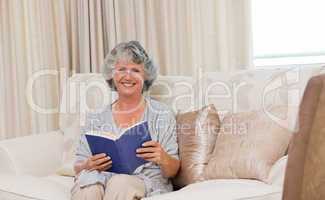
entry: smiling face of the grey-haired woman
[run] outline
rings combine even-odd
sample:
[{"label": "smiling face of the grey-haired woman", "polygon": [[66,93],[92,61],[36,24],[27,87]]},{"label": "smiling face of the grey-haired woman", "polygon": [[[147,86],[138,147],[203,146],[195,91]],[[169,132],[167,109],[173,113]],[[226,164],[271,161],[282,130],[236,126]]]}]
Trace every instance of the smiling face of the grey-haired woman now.
[{"label": "smiling face of the grey-haired woman", "polygon": [[140,96],[144,76],[143,64],[118,61],[114,66],[113,81],[119,96]]}]

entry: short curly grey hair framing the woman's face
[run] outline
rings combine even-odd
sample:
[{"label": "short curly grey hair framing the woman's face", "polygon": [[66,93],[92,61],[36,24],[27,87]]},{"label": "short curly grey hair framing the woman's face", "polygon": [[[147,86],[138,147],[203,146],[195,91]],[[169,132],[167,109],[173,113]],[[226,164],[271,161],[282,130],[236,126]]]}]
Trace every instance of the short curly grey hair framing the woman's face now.
[{"label": "short curly grey hair framing the woman's face", "polygon": [[103,68],[108,85],[113,90],[116,90],[113,81],[113,69],[114,65],[121,60],[143,64],[145,72],[143,91],[147,91],[158,76],[158,67],[153,63],[138,41],[119,43],[106,56]]}]

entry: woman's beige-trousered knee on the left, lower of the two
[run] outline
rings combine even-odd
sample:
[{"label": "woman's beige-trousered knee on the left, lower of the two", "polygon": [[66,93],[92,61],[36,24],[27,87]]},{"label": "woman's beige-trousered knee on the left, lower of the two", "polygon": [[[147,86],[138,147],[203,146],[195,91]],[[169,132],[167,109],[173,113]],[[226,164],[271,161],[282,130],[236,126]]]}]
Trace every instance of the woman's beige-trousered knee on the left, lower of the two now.
[{"label": "woman's beige-trousered knee on the left, lower of the two", "polygon": [[93,184],[80,188],[76,184],[71,190],[72,200],[102,200],[104,196],[104,187],[101,184]]}]

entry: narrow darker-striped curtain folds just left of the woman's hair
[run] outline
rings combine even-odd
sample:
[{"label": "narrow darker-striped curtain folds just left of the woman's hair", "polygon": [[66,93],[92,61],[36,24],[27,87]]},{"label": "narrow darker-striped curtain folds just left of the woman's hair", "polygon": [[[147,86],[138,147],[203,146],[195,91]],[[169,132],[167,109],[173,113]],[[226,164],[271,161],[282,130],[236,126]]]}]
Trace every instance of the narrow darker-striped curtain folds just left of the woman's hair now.
[{"label": "narrow darker-striped curtain folds just left of the woman's hair", "polygon": [[72,0],[70,15],[72,37],[79,50],[81,72],[99,72],[105,49],[115,45],[113,0]]}]

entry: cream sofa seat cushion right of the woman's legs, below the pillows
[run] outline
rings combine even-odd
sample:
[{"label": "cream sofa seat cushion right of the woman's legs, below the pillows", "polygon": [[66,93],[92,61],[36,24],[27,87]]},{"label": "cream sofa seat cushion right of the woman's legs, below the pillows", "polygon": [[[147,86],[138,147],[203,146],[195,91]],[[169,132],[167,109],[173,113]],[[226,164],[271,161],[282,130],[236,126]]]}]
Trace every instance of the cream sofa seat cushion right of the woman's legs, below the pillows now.
[{"label": "cream sofa seat cushion right of the woman's legs, below the pillows", "polygon": [[216,179],[190,184],[181,190],[145,198],[145,200],[263,199],[281,200],[281,187],[256,180]]}]

